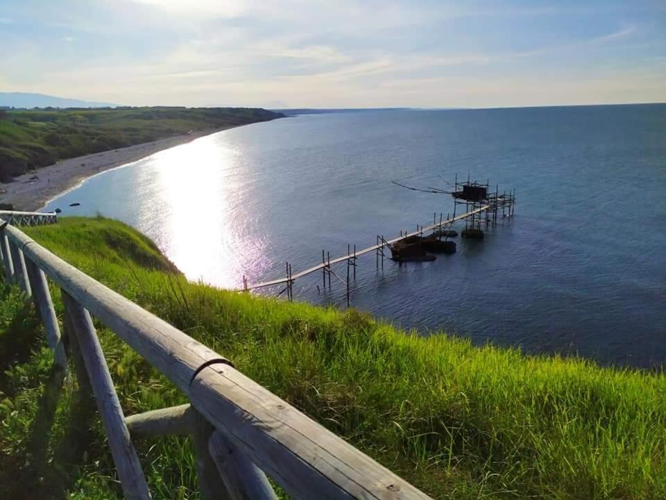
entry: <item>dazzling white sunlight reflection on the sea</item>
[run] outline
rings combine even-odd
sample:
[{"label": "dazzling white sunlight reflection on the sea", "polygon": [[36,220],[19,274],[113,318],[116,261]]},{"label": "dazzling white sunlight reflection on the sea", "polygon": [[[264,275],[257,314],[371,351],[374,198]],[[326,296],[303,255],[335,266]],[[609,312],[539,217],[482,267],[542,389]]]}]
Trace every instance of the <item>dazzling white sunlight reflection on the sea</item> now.
[{"label": "dazzling white sunlight reflection on the sea", "polygon": [[237,288],[248,262],[262,259],[262,241],[244,235],[234,217],[245,178],[235,151],[219,136],[202,138],[157,153],[151,163],[138,172],[152,208],[139,212],[139,230],[153,235],[188,278]]}]

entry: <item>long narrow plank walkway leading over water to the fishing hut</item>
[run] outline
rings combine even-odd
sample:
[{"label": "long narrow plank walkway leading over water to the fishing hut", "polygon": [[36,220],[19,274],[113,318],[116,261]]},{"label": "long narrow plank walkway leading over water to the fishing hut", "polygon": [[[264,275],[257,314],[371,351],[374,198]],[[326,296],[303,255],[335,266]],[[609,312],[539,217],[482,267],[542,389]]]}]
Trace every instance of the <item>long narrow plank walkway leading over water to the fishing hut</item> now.
[{"label": "long narrow plank walkway leading over water to the fishing hut", "polygon": [[[308,274],[312,274],[317,271],[332,272],[330,269],[332,265],[343,263],[345,261],[352,261],[353,262],[352,265],[356,265],[356,259],[359,256],[362,256],[366,253],[370,253],[373,251],[383,252],[384,248],[389,247],[392,244],[399,242],[400,240],[404,240],[405,238],[410,238],[411,236],[422,235],[424,231],[427,232],[427,231],[441,230],[446,226],[450,226],[456,221],[467,219],[468,217],[472,217],[477,214],[481,214],[483,212],[486,212],[486,210],[490,210],[490,208],[491,208],[490,205],[484,205],[479,208],[475,208],[475,210],[470,210],[469,212],[463,213],[461,215],[455,215],[450,219],[440,220],[440,222],[436,222],[430,226],[422,226],[420,229],[418,229],[418,231],[414,231],[413,233],[404,233],[396,238],[393,238],[392,240],[384,240],[383,237],[380,237],[379,240],[381,241],[377,244],[374,244],[372,247],[364,248],[359,251],[354,251],[353,253],[348,252],[347,255],[341,257],[325,259],[322,256],[322,262],[320,264],[308,267],[307,269],[297,272],[296,274],[291,274],[291,267],[287,265],[287,274],[286,276],[284,276],[284,278],[276,278],[271,281],[264,281],[263,283],[254,283],[252,285],[245,284],[243,290],[257,290],[257,288],[266,288],[274,285],[293,285],[293,282],[296,281],[298,278],[302,278],[303,276],[307,276]],[[341,281],[344,280],[341,279]]]}]

